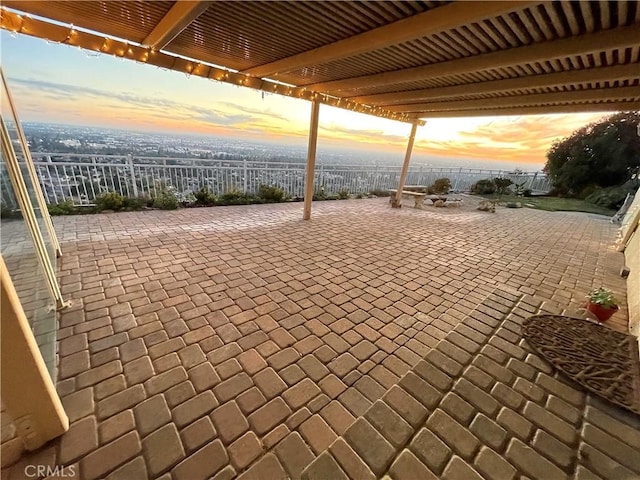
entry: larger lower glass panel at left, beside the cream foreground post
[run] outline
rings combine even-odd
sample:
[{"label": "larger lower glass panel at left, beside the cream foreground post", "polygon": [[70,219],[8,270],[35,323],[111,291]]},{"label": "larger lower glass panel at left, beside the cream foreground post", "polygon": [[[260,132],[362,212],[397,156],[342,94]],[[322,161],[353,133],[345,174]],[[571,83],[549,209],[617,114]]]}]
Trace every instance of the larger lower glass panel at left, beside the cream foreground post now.
[{"label": "larger lower glass panel at left, beside the cream foreground post", "polygon": [[[42,270],[33,237],[22,218],[6,158],[0,165],[0,246],[2,258],[29,320],[40,352],[55,382],[56,302]],[[44,230],[44,228],[43,228]]]}]

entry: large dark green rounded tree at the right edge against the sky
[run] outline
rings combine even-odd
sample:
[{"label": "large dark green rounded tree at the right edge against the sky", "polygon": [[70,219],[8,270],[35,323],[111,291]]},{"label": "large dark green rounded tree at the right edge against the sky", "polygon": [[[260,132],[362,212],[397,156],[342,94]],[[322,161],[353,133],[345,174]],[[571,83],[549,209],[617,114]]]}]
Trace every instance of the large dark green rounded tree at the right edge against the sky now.
[{"label": "large dark green rounded tree at the right edge against the sky", "polygon": [[545,173],[572,195],[626,182],[640,167],[639,123],[640,112],[621,112],[576,130],[551,146]]}]

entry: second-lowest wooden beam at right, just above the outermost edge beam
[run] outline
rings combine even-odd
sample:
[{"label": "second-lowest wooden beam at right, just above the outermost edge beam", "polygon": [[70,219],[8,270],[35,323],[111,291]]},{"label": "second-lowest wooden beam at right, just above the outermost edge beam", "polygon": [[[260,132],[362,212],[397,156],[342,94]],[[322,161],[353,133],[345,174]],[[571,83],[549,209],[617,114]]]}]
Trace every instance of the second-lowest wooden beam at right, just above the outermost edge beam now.
[{"label": "second-lowest wooden beam at right, just above the outermost edge beam", "polygon": [[430,110],[476,110],[482,108],[534,107],[549,103],[584,103],[599,101],[640,101],[640,87],[599,88],[577,92],[536,93],[532,95],[512,95],[508,97],[481,98],[477,100],[450,100],[445,102],[412,103],[392,105],[389,110],[396,112],[424,112]]}]

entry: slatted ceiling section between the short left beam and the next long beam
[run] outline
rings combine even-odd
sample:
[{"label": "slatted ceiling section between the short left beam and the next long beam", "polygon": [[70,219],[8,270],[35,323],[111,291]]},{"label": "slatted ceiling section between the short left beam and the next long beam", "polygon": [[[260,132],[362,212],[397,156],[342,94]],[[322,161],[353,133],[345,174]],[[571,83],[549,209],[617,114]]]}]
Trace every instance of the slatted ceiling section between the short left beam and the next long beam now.
[{"label": "slatted ceiling section between the short left beam and the next long beam", "polygon": [[344,40],[441,3],[396,2],[396,7],[404,8],[390,11],[392,2],[214,2],[171,43],[170,50],[244,70]]}]

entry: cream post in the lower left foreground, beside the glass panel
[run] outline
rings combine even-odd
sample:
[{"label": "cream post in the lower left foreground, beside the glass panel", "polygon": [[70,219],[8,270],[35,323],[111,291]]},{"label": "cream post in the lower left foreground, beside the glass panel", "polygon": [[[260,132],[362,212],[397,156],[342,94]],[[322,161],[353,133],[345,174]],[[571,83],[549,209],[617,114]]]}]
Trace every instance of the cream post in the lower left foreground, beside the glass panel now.
[{"label": "cream post in the lower left foreground, beside the glass panel", "polygon": [[0,257],[2,402],[27,450],[35,450],[69,429],[9,272]]}]

